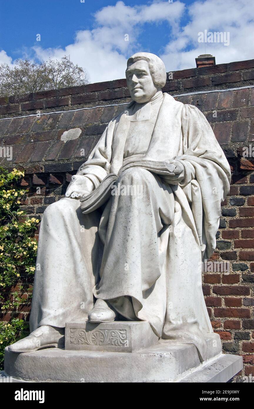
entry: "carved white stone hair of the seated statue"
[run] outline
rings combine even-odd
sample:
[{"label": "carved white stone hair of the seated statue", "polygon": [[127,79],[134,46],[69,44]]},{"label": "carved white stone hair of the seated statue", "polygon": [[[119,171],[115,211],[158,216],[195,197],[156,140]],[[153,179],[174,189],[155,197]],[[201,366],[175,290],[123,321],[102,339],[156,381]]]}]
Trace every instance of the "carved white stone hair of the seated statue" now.
[{"label": "carved white stone hair of the seated statue", "polygon": [[137,52],[128,59],[127,67],[139,60],[147,61],[154,85],[163,88],[167,79],[166,68],[163,61],[155,54],[149,52]]}]

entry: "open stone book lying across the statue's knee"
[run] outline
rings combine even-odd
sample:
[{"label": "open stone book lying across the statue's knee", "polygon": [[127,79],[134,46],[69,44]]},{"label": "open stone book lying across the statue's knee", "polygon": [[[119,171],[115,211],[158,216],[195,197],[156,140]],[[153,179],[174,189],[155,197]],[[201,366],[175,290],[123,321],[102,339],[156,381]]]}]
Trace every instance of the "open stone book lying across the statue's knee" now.
[{"label": "open stone book lying across the statue's knee", "polygon": [[116,182],[120,174],[123,173],[123,171],[125,171],[126,169],[134,167],[147,169],[148,171],[156,173],[158,175],[174,175],[174,169],[176,168],[176,165],[168,163],[167,161],[157,162],[151,160],[127,160],[125,161],[125,164],[120,168],[118,175],[116,175],[116,173],[109,173],[102,180],[102,182],[100,182],[99,186],[96,187],[94,191],[92,191],[88,196],[80,199],[80,207],[82,209],[82,212],[84,214],[91,213],[91,211],[98,209],[100,206],[106,203],[111,196],[111,187]]}]

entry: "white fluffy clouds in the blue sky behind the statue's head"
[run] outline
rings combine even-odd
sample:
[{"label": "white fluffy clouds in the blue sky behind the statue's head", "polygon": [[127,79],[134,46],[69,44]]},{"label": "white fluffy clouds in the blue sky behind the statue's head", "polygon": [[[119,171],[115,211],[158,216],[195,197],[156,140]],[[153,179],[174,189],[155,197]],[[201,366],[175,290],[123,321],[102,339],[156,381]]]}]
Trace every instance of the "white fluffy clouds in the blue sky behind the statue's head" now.
[{"label": "white fluffy clouds in the blue sky behind the statue's head", "polygon": [[[182,18],[187,20],[184,26],[180,26]],[[195,66],[195,57],[205,53],[204,43],[198,43],[198,32],[204,30],[230,33],[228,46],[206,44],[206,52],[216,57],[216,63],[253,58],[254,7],[250,0],[197,0],[189,6],[175,0],[154,0],[133,7],[118,1],[97,11],[94,29],[76,32],[73,44],[47,49],[36,46],[27,50],[27,55],[39,60],[70,55],[86,70],[91,82],[119,79],[124,76],[127,57],[144,49],[139,43],[144,25],[162,22],[171,38],[160,54],[168,71]],[[129,41],[125,41],[126,34]],[[149,51],[149,43],[145,46]],[[3,62],[12,63],[4,50],[0,52]]]}]

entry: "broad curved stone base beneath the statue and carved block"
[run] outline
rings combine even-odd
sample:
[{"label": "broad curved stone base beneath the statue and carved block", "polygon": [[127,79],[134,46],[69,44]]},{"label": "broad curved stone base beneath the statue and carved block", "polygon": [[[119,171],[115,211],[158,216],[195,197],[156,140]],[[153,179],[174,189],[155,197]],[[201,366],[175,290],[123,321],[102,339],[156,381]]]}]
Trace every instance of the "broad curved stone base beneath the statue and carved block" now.
[{"label": "broad curved stone base beneath the statue and carved block", "polygon": [[201,364],[194,345],[175,343],[133,353],[48,348],[15,354],[6,348],[4,362],[13,382],[227,382],[243,367],[236,355]]}]

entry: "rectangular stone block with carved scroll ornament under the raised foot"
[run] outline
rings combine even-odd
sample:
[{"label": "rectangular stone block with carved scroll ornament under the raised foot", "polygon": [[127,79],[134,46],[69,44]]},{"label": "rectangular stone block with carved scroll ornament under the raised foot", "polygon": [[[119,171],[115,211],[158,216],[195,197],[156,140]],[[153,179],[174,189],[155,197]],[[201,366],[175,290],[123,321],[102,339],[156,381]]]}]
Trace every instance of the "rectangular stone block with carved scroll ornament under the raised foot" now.
[{"label": "rectangular stone block with carved scroll ornament under the raised foot", "polygon": [[146,321],[71,321],[65,327],[65,349],[134,352],[156,344],[158,337]]}]

